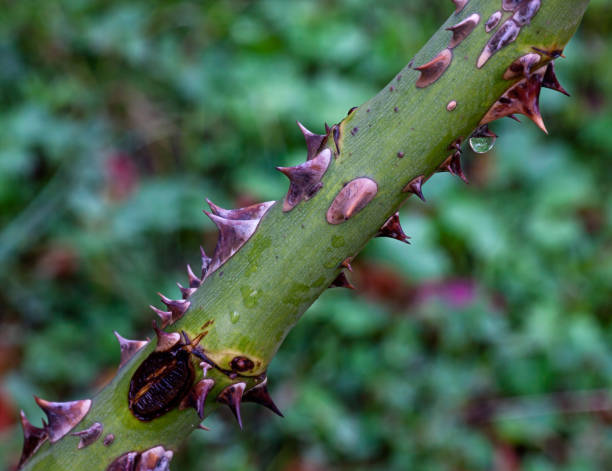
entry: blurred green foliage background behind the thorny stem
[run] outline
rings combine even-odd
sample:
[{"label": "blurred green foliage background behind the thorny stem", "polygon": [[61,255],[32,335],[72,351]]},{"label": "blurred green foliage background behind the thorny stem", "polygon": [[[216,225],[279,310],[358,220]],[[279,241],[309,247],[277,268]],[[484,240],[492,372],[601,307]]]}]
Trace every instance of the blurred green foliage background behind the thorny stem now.
[{"label": "blurred green foliage background behind the thorny stem", "polygon": [[[112,334],[216,231],[279,199],[276,165],[383,87],[448,0],[0,1],[0,467],[32,394],[91,394]],[[550,136],[492,127],[471,184],[437,175],[270,366],[285,419],[243,408],[174,470],[606,470],[612,463],[612,7],[592,0],[544,90]],[[311,339],[316,338],[316,342]]]}]

